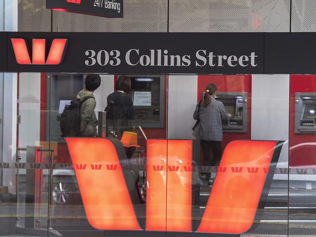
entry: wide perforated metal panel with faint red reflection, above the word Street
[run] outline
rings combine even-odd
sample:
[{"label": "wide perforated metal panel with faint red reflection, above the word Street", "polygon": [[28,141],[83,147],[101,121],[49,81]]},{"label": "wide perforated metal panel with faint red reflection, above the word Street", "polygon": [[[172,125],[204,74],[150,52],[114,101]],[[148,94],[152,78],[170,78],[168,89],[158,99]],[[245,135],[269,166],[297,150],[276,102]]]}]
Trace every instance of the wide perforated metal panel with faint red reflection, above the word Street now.
[{"label": "wide perforated metal panel with faint red reflection, above the word Street", "polygon": [[290,0],[170,0],[170,32],[288,32]]}]

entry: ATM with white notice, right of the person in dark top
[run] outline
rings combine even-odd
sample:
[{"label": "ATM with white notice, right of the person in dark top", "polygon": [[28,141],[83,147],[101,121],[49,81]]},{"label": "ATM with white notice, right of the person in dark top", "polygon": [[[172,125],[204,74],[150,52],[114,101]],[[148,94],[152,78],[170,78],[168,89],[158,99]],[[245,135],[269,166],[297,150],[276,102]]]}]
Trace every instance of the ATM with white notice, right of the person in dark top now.
[{"label": "ATM with white notice, right of the person in dark top", "polygon": [[130,96],[136,112],[132,126],[164,127],[164,76],[126,75],[131,79]]}]

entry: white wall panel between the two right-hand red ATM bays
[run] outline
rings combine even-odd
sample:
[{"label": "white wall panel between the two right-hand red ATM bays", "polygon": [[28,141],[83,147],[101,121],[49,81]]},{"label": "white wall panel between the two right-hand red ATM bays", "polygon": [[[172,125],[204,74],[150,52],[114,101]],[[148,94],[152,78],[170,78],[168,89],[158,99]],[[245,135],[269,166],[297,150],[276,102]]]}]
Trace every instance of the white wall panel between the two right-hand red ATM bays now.
[{"label": "white wall panel between the two right-hand red ATM bays", "polygon": [[[252,75],[252,140],[288,140],[289,86],[290,75]],[[279,161],[279,167],[287,167],[287,142]]]}]

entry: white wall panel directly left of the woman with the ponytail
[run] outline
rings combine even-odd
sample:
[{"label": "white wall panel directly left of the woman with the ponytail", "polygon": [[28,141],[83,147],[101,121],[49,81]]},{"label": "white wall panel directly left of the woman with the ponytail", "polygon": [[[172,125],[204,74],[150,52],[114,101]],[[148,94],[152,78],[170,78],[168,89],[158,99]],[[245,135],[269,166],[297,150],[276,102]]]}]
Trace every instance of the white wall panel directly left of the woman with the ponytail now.
[{"label": "white wall panel directly left of the woman with the ponytail", "polygon": [[195,123],[193,112],[197,100],[197,75],[168,77],[168,138],[191,139]]}]

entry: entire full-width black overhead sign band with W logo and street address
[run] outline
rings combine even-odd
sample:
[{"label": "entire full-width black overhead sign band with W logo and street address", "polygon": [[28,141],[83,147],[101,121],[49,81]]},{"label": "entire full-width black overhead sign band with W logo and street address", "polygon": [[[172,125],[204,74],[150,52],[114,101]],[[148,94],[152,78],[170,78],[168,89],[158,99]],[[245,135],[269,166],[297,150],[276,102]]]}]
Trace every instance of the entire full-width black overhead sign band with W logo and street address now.
[{"label": "entire full-width black overhead sign band with W logo and street address", "polygon": [[0,71],[316,74],[315,41],[316,33],[0,32]]}]

